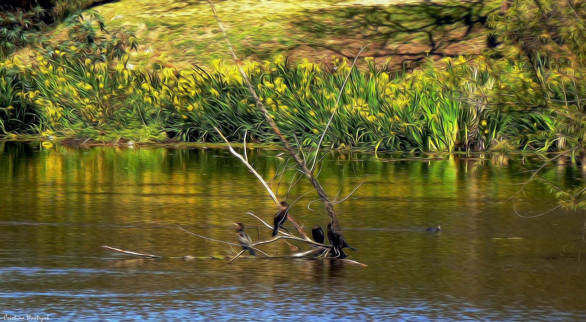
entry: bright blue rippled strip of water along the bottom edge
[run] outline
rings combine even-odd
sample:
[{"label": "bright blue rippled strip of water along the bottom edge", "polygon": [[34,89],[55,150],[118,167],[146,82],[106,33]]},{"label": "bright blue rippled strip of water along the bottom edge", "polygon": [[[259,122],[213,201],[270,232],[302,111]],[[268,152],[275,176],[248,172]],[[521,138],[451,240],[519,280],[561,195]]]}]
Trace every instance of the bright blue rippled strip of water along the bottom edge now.
[{"label": "bright blue rippled strip of water along the bottom edge", "polygon": [[[233,289],[233,287],[230,287]],[[173,290],[172,292],[116,293],[100,290],[84,292],[0,292],[0,298],[11,307],[4,314],[22,315],[24,309],[34,314],[49,315],[50,321],[568,321],[570,316],[557,311],[521,311],[510,307],[496,314],[489,310],[460,303],[458,307],[446,304],[412,300],[384,302],[380,299],[361,299],[350,294],[323,294],[306,299],[292,292],[257,298],[247,295],[226,297],[223,289]],[[185,300],[193,293],[203,300]],[[244,292],[246,293],[246,292]],[[291,293],[291,294],[288,294]],[[30,297],[47,302],[41,307],[27,308]],[[39,303],[36,300],[35,303]],[[32,314],[32,313],[25,313]],[[580,317],[586,317],[582,315]],[[81,319],[81,320],[80,320]]]}]

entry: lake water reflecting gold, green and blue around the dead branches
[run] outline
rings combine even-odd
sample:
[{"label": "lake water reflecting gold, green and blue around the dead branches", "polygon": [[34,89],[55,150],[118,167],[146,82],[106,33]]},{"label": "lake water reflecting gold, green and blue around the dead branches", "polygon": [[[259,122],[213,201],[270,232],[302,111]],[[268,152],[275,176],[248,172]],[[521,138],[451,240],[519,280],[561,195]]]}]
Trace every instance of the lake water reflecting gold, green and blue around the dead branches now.
[{"label": "lake water reflecting gold, green and blue around the dead branches", "polygon": [[[229,255],[233,222],[267,238],[251,211],[276,209],[227,150],[0,147],[0,314],[49,321],[584,321],[584,214],[556,207],[548,181],[583,183],[529,159],[393,160],[328,155],[319,179],[367,267]],[[281,151],[254,151],[266,177]],[[290,164],[290,163],[289,163]],[[281,181],[281,196],[293,172]],[[341,186],[341,189],[340,189]],[[311,190],[305,180],[292,201]],[[315,192],[292,214],[325,227]],[[423,231],[441,225],[443,231]],[[258,230],[257,230],[257,226]],[[165,256],[137,258],[102,245]],[[300,245],[299,245],[300,246]],[[281,243],[263,248],[291,254]]]}]

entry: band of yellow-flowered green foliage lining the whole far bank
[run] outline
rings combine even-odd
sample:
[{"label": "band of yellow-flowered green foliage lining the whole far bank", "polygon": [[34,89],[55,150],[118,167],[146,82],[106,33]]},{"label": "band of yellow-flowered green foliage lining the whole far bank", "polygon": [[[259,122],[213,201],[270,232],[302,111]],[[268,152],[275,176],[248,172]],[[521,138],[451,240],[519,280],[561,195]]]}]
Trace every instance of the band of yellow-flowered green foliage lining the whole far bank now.
[{"label": "band of yellow-flowered green foliage lining the whole far bank", "polygon": [[[391,59],[363,59],[338,107],[338,91],[350,71],[346,60],[333,61],[338,68],[330,71],[322,64],[293,64],[278,56],[263,63],[248,60],[246,72],[282,132],[304,146],[319,141],[336,111],[323,141],[333,148],[569,148],[583,154],[583,4],[517,0],[503,8],[492,2],[481,9],[454,6],[444,13],[438,6],[430,8],[426,14],[441,18],[442,28],[452,16],[464,30],[484,28],[496,39],[493,43],[502,44],[482,55],[423,56],[417,68],[398,73],[389,72],[397,69]],[[466,15],[474,18],[472,24]],[[390,19],[374,13],[368,17],[374,22]],[[413,28],[422,27],[417,23]],[[410,22],[397,24],[408,32]],[[435,30],[436,38],[443,35],[431,25],[423,27],[424,32]],[[148,61],[130,64],[137,48],[134,36],[108,32],[89,13],[62,29],[67,41],[14,54],[0,64],[3,132],[100,141],[221,142],[212,127],[218,126],[233,141],[241,141],[245,131],[248,141],[278,141],[231,64],[214,61],[207,71]]]}]

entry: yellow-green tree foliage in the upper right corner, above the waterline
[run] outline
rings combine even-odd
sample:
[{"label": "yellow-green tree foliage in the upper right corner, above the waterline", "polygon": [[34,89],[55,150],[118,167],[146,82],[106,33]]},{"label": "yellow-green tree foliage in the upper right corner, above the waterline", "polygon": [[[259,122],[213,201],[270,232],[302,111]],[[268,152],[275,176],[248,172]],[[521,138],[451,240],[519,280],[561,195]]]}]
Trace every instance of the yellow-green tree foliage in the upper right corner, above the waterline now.
[{"label": "yellow-green tree foliage in the upper right corner, above the waterline", "polygon": [[523,68],[526,87],[515,101],[530,104],[554,119],[548,144],[584,156],[586,124],[586,4],[581,1],[516,0],[505,2],[490,25],[503,39],[505,59]]}]

